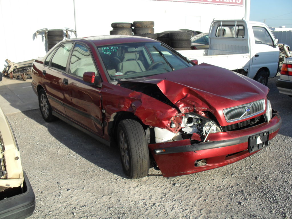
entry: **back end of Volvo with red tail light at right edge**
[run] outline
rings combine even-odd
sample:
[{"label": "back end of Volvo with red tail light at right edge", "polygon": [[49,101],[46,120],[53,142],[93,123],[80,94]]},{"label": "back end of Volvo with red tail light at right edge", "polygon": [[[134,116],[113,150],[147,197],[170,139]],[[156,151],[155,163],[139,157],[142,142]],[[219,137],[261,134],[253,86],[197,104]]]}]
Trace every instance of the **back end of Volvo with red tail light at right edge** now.
[{"label": "back end of Volvo with red tail light at right edge", "polygon": [[280,93],[292,97],[292,57],[284,60],[281,68],[280,79],[277,80],[276,86]]}]

